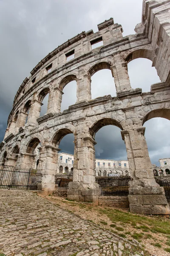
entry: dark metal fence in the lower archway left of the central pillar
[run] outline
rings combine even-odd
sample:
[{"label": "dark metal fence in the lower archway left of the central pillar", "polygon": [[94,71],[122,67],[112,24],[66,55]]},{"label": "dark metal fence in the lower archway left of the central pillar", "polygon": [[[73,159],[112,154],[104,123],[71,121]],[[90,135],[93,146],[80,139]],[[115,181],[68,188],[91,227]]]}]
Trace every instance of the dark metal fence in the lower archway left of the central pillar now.
[{"label": "dark metal fence in the lower archway left of the central pillar", "polygon": [[68,183],[73,181],[72,173],[59,173],[55,175],[55,186],[57,189],[68,189]]}]

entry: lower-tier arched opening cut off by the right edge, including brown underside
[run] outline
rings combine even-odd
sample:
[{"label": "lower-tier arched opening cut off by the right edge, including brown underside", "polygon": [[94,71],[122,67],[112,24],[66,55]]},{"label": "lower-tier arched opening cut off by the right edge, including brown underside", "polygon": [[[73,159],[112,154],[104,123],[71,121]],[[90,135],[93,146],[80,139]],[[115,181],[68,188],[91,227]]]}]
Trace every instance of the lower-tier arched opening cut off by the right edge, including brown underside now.
[{"label": "lower-tier arched opening cut off by the right edge, including brown underside", "polygon": [[159,159],[170,157],[170,109],[156,109],[144,117],[145,139],[152,164],[163,169]]}]

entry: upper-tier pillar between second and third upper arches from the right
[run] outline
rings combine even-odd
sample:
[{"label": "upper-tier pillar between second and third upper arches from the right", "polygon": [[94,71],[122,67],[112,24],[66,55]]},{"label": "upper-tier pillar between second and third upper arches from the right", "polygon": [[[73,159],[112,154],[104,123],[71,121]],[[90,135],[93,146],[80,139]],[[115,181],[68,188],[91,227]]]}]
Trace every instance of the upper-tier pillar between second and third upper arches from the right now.
[{"label": "upper-tier pillar between second and third upper arches from the right", "polygon": [[77,103],[91,99],[91,78],[88,74],[82,74],[77,79]]}]

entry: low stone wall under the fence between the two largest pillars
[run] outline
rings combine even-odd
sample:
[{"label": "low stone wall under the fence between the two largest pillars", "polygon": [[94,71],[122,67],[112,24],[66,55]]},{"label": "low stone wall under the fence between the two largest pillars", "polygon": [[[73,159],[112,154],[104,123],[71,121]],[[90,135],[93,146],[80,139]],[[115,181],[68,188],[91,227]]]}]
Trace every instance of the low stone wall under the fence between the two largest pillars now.
[{"label": "low stone wall under the fence between the two largest pillars", "polygon": [[129,208],[127,196],[99,196],[99,206]]}]

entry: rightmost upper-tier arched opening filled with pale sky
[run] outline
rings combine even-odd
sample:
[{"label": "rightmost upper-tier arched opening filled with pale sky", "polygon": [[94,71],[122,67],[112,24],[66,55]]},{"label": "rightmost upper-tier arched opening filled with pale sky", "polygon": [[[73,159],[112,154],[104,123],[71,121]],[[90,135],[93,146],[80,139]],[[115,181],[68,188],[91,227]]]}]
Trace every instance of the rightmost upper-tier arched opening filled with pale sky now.
[{"label": "rightmost upper-tier arched opening filled with pale sky", "polygon": [[130,85],[133,89],[142,88],[142,93],[150,92],[152,84],[160,83],[156,68],[147,58],[136,58],[127,65]]}]

